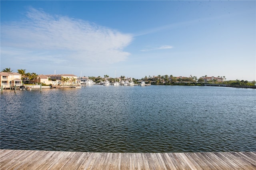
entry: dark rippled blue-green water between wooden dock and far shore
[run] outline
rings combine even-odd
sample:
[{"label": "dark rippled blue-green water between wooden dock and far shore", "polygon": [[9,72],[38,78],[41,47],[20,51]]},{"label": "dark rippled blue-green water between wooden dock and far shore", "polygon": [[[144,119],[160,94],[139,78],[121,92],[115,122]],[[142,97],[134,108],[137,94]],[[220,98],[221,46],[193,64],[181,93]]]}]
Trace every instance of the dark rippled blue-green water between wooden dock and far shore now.
[{"label": "dark rippled blue-green water between wooden dock and far shore", "polygon": [[1,149],[256,151],[255,89],[94,85],[0,99]]}]

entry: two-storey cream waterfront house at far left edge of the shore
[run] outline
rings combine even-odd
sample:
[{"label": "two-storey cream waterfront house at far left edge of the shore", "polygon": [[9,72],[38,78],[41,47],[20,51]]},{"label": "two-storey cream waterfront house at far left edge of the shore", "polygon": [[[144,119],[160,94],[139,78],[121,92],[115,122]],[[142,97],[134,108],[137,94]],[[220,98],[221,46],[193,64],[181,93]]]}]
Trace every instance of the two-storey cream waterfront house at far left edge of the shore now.
[{"label": "two-storey cream waterfront house at far left edge of the shore", "polygon": [[0,72],[0,75],[0,85],[3,86],[3,88],[12,88],[15,85],[17,87],[22,85],[21,74],[19,73]]}]

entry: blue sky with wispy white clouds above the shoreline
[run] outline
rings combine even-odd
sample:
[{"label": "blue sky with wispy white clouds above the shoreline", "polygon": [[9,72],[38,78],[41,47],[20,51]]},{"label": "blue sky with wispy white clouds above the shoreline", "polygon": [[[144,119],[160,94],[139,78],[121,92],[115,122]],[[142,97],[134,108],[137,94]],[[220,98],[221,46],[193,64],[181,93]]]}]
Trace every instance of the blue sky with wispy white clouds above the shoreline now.
[{"label": "blue sky with wispy white clouds above the shoreline", "polygon": [[256,1],[4,1],[1,70],[256,80]]}]

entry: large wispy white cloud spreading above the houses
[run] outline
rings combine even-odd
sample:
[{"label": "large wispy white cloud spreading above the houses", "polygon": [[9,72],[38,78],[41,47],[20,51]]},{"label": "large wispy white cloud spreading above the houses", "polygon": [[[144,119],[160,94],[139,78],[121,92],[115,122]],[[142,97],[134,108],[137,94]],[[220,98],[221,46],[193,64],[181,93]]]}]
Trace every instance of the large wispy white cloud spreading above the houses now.
[{"label": "large wispy white cloud spreading above the houses", "polygon": [[29,8],[24,20],[1,24],[1,58],[22,56],[24,61],[65,64],[116,63],[132,35],[67,16]]}]

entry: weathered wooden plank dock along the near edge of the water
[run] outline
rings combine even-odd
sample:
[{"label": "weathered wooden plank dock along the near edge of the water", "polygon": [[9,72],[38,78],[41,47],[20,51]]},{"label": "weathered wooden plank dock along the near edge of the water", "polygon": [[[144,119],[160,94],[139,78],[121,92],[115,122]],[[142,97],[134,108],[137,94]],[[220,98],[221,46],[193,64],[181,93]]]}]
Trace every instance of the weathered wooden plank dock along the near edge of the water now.
[{"label": "weathered wooden plank dock along the near edge of the water", "polygon": [[0,150],[1,170],[256,170],[256,152],[94,153]]}]

